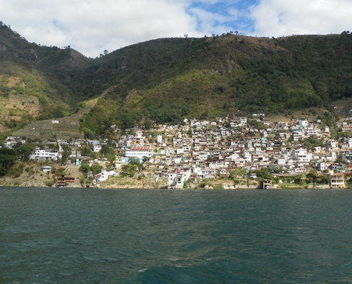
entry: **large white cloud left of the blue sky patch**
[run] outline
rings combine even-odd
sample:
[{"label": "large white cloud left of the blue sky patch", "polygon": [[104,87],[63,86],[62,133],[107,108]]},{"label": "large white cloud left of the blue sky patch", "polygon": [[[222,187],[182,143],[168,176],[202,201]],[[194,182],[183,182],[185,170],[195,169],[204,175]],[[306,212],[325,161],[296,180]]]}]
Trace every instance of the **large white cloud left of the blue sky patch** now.
[{"label": "large white cloud left of the blue sky patch", "polygon": [[0,0],[0,19],[28,41],[71,45],[95,57],[104,49],[196,31],[186,13],[189,1],[171,0]]}]

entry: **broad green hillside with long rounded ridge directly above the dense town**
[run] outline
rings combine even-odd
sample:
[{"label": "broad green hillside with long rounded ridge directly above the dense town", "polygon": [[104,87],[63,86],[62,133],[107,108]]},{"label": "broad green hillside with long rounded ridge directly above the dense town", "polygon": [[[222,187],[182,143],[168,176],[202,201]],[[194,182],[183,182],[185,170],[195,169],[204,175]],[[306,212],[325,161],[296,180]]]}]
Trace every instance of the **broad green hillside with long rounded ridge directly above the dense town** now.
[{"label": "broad green hillside with long rounded ridge directly above the dense town", "polygon": [[92,92],[117,85],[85,117],[82,127],[97,134],[112,123],[176,122],[236,109],[330,109],[352,96],[352,35],[152,40],[117,50],[87,72],[100,80]]}]

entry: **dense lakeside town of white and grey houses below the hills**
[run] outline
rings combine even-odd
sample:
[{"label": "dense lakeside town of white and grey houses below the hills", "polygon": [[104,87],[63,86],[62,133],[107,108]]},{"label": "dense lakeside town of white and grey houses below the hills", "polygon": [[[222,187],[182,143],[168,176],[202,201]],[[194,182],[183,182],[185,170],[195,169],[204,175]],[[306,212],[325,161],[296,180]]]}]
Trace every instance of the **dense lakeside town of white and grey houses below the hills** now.
[{"label": "dense lakeside town of white and grey houses below the hills", "polygon": [[338,122],[329,113],[315,121],[288,122],[269,121],[260,113],[228,115],[154,124],[147,130],[120,131],[112,125],[111,130],[114,138],[100,140],[9,136],[1,147],[17,149],[16,162],[0,184],[176,189],[352,185],[352,114]]}]

